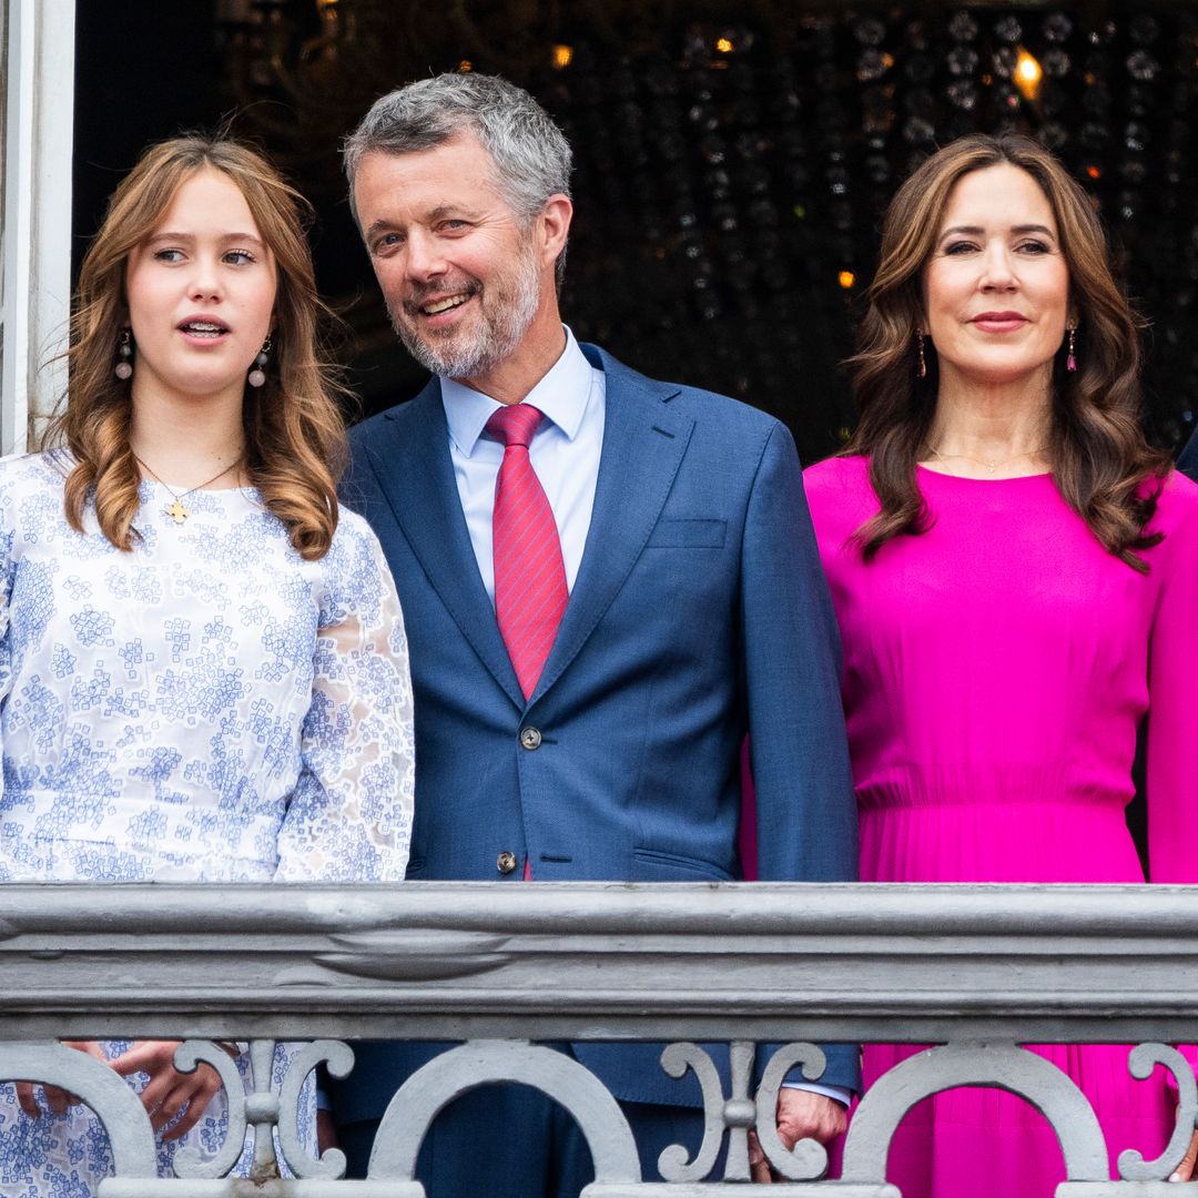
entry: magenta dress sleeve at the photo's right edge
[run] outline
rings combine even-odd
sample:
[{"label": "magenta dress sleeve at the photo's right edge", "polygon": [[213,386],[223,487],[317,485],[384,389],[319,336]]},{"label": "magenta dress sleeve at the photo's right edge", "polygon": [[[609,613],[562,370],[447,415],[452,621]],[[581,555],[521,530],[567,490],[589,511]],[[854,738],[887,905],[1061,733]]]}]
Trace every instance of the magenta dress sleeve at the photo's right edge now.
[{"label": "magenta dress sleeve at the photo's right edge", "polygon": [[1172,474],[1149,646],[1148,857],[1152,882],[1198,882],[1198,485]]}]

